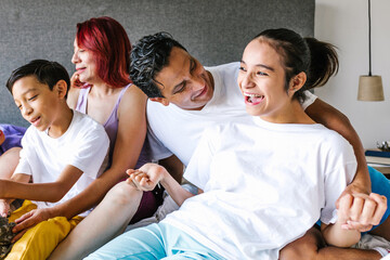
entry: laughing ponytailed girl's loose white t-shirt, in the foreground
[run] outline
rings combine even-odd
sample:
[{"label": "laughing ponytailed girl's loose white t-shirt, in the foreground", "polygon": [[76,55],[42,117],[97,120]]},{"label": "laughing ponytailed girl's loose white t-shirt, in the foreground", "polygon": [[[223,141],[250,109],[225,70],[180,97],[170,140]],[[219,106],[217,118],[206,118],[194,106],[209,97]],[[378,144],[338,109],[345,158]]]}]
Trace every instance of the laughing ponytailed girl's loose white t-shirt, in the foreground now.
[{"label": "laughing ponytailed girl's loose white t-shirt, in the foreground", "polygon": [[277,259],[318,218],[335,222],[355,170],[352,146],[322,125],[245,118],[205,131],[184,173],[205,193],[161,222],[226,259]]}]

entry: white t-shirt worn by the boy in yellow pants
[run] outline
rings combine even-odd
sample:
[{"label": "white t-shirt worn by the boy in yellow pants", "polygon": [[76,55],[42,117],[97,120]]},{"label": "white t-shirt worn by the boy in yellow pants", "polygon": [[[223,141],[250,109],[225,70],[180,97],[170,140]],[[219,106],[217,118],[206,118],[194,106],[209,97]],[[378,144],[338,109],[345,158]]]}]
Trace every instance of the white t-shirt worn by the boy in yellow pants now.
[{"label": "white t-shirt worn by the boy in yellow pants", "polygon": [[[34,202],[38,208],[53,207],[82,192],[107,166],[109,140],[103,126],[91,117],[73,112],[66,132],[57,139],[30,126],[22,139],[23,150],[16,173],[29,174],[34,183],[54,182],[66,166],[83,173],[57,203]],[[80,216],[87,216],[89,211]]]}]

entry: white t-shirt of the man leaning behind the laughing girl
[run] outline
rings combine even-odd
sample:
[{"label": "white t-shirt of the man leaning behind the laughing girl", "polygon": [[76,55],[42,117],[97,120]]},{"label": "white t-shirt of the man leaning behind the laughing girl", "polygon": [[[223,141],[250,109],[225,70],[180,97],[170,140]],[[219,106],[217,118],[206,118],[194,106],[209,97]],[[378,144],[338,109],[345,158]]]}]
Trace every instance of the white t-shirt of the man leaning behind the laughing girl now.
[{"label": "white t-shirt of the man leaning behind the laughing girl", "polygon": [[[244,98],[237,84],[239,63],[206,67],[214,81],[212,99],[202,110],[184,110],[174,104],[164,106],[147,101],[147,138],[154,160],[174,154],[184,164],[190,162],[196,145],[208,127],[249,117]],[[316,96],[309,91],[303,108],[311,105]]]}]

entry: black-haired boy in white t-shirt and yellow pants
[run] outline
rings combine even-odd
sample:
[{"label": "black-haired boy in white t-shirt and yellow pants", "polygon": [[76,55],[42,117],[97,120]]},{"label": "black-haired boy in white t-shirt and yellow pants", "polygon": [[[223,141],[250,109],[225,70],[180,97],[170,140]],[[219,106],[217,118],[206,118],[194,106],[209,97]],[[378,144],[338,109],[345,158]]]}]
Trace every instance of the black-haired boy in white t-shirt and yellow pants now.
[{"label": "black-haired boy in white t-shirt and yellow pants", "polygon": [[[69,76],[58,63],[31,61],[12,73],[6,87],[32,125],[22,139],[14,174],[0,181],[1,214],[10,213],[13,198],[25,199],[9,218],[20,222],[36,208],[50,208],[86,188],[105,169],[109,141],[100,123],[67,106]],[[17,234],[5,259],[47,259],[88,213],[49,219]]]}]

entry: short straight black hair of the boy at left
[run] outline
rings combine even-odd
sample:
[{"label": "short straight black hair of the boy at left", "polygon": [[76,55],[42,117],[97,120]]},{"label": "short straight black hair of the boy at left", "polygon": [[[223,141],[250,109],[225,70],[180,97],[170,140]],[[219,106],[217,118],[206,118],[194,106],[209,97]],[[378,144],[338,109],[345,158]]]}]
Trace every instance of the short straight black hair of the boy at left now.
[{"label": "short straight black hair of the boy at left", "polygon": [[35,76],[40,83],[48,84],[50,90],[53,90],[60,80],[65,80],[67,90],[70,86],[69,74],[60,63],[34,60],[12,72],[5,84],[9,91],[12,93],[16,80],[27,76]]}]

